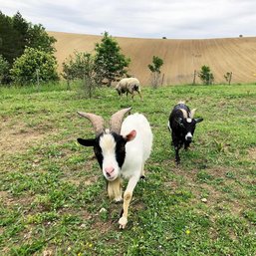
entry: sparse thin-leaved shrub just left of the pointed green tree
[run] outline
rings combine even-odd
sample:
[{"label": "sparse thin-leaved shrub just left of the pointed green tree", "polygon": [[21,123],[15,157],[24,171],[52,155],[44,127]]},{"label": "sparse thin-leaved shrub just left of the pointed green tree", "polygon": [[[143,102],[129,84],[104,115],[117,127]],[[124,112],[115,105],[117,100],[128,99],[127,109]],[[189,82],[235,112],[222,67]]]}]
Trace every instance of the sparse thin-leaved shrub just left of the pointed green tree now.
[{"label": "sparse thin-leaved shrub just left of the pointed green tree", "polygon": [[68,88],[71,81],[81,80],[83,91],[91,98],[97,86],[94,57],[89,53],[75,52],[74,57],[70,56],[63,63],[62,76],[67,80]]}]

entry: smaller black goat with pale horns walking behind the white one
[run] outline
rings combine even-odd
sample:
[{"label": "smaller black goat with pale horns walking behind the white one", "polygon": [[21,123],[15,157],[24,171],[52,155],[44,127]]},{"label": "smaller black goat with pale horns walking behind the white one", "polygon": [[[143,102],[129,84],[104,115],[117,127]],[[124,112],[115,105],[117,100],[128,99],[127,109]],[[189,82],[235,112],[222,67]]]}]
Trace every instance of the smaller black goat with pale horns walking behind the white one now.
[{"label": "smaller black goat with pale horns walking behind the white one", "polygon": [[175,149],[175,161],[180,162],[178,150],[184,145],[187,149],[192,141],[193,133],[196,124],[203,121],[203,119],[194,119],[196,109],[191,112],[189,108],[182,102],[178,103],[170,113],[168,128],[171,132],[172,144]]}]

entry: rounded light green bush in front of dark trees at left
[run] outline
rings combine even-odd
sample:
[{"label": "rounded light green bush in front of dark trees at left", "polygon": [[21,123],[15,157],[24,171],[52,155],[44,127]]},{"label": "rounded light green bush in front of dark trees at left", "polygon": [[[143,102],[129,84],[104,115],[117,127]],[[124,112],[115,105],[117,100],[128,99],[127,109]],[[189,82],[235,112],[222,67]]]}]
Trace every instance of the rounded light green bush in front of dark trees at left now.
[{"label": "rounded light green bush in front of dark trees at left", "polygon": [[58,80],[57,61],[54,55],[28,47],[24,54],[16,59],[10,73],[16,83],[24,85],[35,83],[38,71],[43,82]]}]

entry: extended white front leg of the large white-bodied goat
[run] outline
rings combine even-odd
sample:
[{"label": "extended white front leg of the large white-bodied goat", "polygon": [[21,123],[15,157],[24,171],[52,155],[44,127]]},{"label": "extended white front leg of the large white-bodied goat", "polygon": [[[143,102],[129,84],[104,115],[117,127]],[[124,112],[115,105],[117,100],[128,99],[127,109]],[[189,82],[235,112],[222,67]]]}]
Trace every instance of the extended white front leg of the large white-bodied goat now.
[{"label": "extended white front leg of the large white-bodied goat", "polygon": [[[139,171],[138,171],[138,173],[139,173]],[[138,179],[139,179],[139,175],[138,176],[132,176],[128,180],[128,187],[127,187],[127,189],[124,193],[123,215],[119,220],[121,229],[124,229],[126,227],[127,223],[128,223],[128,205],[129,205],[129,202],[130,202],[131,197],[132,197],[133,189],[134,189]]]}]

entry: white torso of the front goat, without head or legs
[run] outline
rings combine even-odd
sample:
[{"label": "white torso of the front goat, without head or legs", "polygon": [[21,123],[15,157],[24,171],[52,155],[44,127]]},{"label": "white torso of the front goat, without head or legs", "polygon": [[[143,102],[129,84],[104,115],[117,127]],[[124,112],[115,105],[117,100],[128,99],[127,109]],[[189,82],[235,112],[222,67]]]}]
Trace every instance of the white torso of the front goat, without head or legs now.
[{"label": "white torso of the front goat, without head or legs", "polygon": [[121,174],[125,178],[131,176],[139,178],[141,168],[149,157],[152,147],[152,131],[143,115],[136,113],[128,116],[123,122],[121,134],[126,136],[132,129],[136,131],[136,136],[126,144],[126,158],[121,169]]}]

